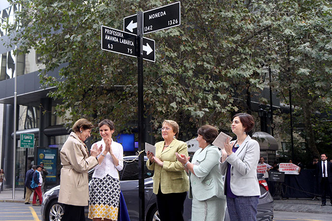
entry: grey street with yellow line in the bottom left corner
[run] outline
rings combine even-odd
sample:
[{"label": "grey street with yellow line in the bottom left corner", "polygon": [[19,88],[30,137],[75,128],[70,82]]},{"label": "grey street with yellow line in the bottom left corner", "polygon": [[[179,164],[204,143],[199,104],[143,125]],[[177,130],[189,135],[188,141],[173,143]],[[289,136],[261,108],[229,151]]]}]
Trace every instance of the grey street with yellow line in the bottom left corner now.
[{"label": "grey street with yellow line in the bottom left corner", "polygon": [[0,202],[0,221],[41,221],[40,206]]}]

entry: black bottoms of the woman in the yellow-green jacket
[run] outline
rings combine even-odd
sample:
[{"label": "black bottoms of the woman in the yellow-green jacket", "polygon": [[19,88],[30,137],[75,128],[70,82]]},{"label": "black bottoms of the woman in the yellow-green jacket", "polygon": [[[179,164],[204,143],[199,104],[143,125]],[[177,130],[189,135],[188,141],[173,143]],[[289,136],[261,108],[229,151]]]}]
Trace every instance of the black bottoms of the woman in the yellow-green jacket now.
[{"label": "black bottoms of the woman in the yellow-green jacket", "polygon": [[157,208],[160,221],[183,221],[183,203],[187,192],[161,193],[160,187],[157,198]]}]

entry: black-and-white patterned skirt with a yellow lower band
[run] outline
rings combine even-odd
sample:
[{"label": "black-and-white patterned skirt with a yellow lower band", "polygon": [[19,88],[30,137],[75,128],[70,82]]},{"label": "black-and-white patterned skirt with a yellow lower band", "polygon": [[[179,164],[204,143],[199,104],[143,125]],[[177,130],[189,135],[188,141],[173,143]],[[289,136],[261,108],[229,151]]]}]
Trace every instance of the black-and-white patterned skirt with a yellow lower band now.
[{"label": "black-and-white patterned skirt with a yellow lower band", "polygon": [[120,181],[110,175],[92,178],[89,191],[89,219],[118,220]]}]

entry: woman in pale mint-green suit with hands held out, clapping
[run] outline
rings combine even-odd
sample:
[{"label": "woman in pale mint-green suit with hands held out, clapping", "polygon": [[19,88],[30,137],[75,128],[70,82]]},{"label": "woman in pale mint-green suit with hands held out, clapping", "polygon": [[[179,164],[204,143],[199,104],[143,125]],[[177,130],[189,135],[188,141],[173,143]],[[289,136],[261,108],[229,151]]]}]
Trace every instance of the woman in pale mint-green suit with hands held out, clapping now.
[{"label": "woman in pale mint-green suit with hands held out, clapping", "polygon": [[190,163],[189,157],[176,153],[178,161],[189,173],[189,198],[192,198],[191,221],[223,221],[226,210],[224,183],[218,169],[221,153],[212,145],[218,130],[204,125],[197,131],[199,147]]}]

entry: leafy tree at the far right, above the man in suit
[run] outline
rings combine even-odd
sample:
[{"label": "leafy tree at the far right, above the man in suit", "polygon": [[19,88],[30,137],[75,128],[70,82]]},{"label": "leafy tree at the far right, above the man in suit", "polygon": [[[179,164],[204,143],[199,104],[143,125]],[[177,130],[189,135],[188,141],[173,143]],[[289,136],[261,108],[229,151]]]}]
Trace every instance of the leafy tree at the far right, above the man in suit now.
[{"label": "leafy tree at the far right, above the man in suit", "polygon": [[277,2],[274,11],[283,14],[276,17],[272,27],[279,91],[286,104],[291,91],[308,153],[317,156],[317,116],[320,121],[331,119],[324,115],[331,110],[332,99],[331,4],[325,0],[286,0]]}]

